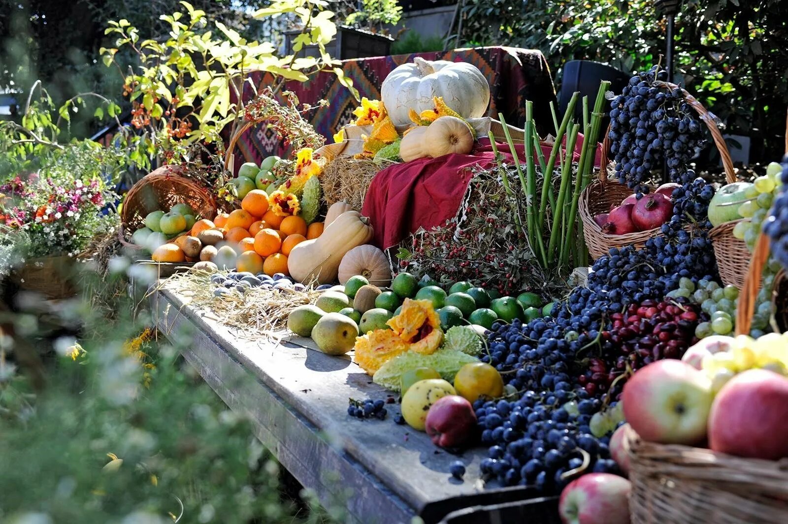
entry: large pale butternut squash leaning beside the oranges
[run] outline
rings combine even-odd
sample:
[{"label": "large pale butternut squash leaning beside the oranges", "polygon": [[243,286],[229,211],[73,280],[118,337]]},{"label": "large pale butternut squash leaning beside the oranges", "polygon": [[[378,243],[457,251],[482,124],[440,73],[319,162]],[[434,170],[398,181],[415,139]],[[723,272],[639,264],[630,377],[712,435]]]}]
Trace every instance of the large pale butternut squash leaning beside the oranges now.
[{"label": "large pale butternut squash leaning beside the oranges", "polygon": [[327,284],[336,280],[342,257],[372,239],[372,226],[358,211],[346,211],[333,220],[318,238],[296,245],[288,256],[288,271],[293,279],[308,284]]}]

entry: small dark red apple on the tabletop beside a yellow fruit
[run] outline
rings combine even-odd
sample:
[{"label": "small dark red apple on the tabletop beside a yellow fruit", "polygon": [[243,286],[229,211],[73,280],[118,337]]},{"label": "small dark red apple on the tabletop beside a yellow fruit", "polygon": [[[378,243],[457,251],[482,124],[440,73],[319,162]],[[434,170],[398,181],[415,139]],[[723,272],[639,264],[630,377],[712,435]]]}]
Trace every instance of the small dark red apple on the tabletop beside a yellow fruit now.
[{"label": "small dark red apple on the tabletop beside a yellow fruit", "polygon": [[459,395],[440,397],[427,411],[425,429],[433,444],[441,448],[459,448],[476,437],[474,407]]}]

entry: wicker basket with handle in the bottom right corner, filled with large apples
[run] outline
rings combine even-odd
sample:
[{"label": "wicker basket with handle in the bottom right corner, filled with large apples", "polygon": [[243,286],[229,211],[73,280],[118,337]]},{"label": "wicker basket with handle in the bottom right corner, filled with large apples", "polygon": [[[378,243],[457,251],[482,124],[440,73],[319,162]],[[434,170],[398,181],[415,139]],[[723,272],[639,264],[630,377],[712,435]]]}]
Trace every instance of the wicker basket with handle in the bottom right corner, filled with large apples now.
[{"label": "wicker basket with handle in the bottom right corner, filled with large apples", "polygon": [[[749,333],[768,238],[758,238],[739,294],[736,334]],[[627,435],[632,522],[776,524],[788,522],[788,459],[745,459],[706,448],[663,445]]]}]

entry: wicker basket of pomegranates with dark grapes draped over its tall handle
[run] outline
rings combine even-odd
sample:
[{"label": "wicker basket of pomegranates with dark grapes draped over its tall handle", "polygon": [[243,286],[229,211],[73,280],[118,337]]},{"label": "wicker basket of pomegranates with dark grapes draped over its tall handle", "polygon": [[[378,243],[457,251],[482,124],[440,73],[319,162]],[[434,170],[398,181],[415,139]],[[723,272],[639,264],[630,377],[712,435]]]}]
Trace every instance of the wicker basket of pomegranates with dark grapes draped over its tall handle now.
[{"label": "wicker basket of pomegranates with dark grapes draped over its tall handle", "polygon": [[[673,83],[657,83],[671,90],[678,88],[678,86]],[[725,145],[725,139],[719,131],[719,127],[717,127],[714,118],[708,113],[708,110],[704,108],[701,102],[697,101],[697,99],[686,92],[686,90],[682,89],[682,93],[687,103],[695,109],[697,114],[701,117],[701,120],[706,123],[708,131],[712,133],[714,143],[719,150],[719,156],[723,161],[723,168],[725,168],[725,179],[729,183],[735,182],[736,173],[734,172],[734,164],[733,161],[730,160],[730,153]],[[580,195],[580,202],[578,205],[578,214],[583,224],[585,245],[589,249],[591,256],[595,259],[608,254],[608,251],[614,247],[618,248],[632,244],[637,249],[640,249],[649,238],[660,234],[659,227],[649,229],[648,231],[637,231],[636,233],[629,234],[605,234],[600,225],[593,220],[594,216],[608,212],[611,205],[620,205],[624,198],[632,194],[632,190],[625,184],[619,183],[617,180],[608,179],[608,153],[611,146],[609,135],[610,127],[608,127],[608,131],[605,132],[604,142],[602,142],[602,162],[600,164],[598,177],[585,187],[585,190],[583,190],[583,193]],[[730,235],[730,238],[736,240],[732,235]],[[746,249],[746,246],[744,247]],[[723,249],[723,245],[721,245],[721,249]],[[739,271],[741,271],[741,266]]]}]

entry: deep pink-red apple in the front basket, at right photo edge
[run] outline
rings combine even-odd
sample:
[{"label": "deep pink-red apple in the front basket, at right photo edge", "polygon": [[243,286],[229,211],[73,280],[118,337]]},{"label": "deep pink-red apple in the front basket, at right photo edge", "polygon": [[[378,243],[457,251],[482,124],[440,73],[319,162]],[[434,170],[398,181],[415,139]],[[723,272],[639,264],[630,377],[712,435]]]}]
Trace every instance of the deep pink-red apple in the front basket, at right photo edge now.
[{"label": "deep pink-red apple in the front basket, at right photo edge", "polygon": [[751,369],[719,390],[708,417],[714,451],[756,459],[788,456],[788,378]]}]

